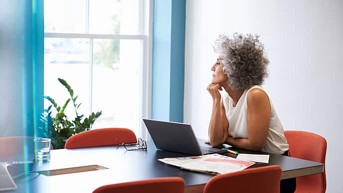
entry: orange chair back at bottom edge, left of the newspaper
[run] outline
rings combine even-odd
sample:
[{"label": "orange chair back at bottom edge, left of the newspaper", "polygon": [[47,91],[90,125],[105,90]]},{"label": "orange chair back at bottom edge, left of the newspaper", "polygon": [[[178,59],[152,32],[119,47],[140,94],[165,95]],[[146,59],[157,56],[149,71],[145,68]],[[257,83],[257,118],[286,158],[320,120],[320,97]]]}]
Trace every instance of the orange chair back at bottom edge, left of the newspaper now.
[{"label": "orange chair back at bottom edge, left of the newspaper", "polygon": [[184,181],[178,177],[106,185],[93,193],[183,193]]}]

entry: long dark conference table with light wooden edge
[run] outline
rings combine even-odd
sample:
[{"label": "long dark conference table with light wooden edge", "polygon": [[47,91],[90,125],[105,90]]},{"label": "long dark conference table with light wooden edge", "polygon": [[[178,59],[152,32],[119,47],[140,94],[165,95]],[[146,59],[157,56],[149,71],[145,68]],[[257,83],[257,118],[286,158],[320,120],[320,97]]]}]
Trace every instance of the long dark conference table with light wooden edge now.
[{"label": "long dark conference table with light wooden edge", "polygon": [[[204,141],[199,140],[199,142],[203,144]],[[147,144],[147,151],[126,151],[121,146],[52,150],[50,161],[33,164],[33,171],[67,168],[75,170],[76,167],[91,165],[108,169],[55,176],[32,173],[15,179],[16,190],[1,193],[91,193],[103,185],[159,177],[180,177],[185,181],[185,193],[200,193],[205,184],[213,177],[213,175],[181,170],[162,163],[157,159],[188,155],[157,150],[152,141]],[[246,153],[244,150],[238,151]],[[223,155],[235,157],[230,153]],[[270,154],[268,164],[256,163],[251,168],[267,165],[281,166],[282,179],[318,174],[324,171],[322,163],[273,154]],[[69,170],[65,171],[70,172]]]}]

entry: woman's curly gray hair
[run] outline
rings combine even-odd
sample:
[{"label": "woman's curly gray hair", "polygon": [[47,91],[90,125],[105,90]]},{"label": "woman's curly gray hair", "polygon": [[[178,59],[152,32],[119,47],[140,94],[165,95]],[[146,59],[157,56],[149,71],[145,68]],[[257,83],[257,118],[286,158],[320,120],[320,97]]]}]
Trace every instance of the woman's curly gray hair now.
[{"label": "woman's curly gray hair", "polygon": [[213,49],[223,60],[223,72],[228,77],[232,90],[245,90],[253,85],[261,85],[268,76],[264,45],[258,35],[234,33],[233,38],[219,35]]}]

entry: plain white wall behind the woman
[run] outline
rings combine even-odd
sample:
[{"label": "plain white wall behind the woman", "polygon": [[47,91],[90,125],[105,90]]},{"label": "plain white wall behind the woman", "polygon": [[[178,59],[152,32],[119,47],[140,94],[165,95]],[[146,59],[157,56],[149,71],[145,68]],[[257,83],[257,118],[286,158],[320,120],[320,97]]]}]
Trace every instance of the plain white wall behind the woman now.
[{"label": "plain white wall behind the woman", "polygon": [[211,114],[211,45],[234,32],[261,36],[270,60],[264,88],[285,130],[326,138],[327,193],[342,192],[343,1],[187,0],[184,122],[200,138]]}]

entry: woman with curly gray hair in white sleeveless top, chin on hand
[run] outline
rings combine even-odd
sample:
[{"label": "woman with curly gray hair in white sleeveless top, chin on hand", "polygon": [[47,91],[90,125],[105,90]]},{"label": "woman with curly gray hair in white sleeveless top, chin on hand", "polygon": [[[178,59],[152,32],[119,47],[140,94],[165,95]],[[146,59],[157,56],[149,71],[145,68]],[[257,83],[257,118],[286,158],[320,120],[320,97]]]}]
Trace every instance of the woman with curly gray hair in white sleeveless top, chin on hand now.
[{"label": "woman with curly gray hair in white sleeveless top, chin on hand", "polygon": [[[213,47],[219,57],[207,86],[213,99],[209,143],[289,156],[282,124],[260,86],[269,61],[258,36],[220,35]],[[295,187],[295,179],[281,181],[281,193],[293,193]]]}]

